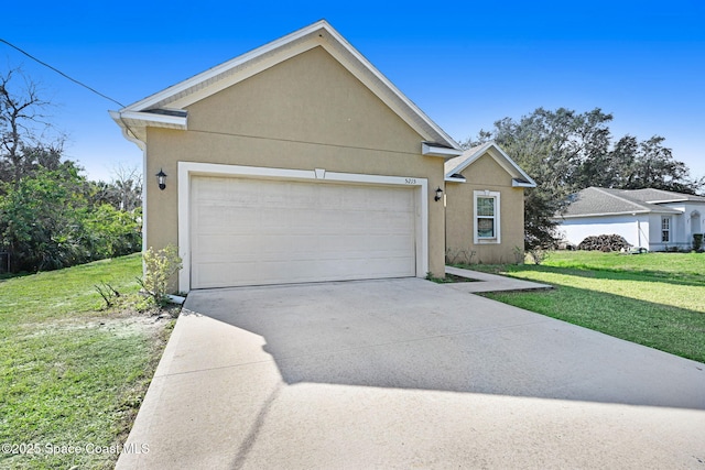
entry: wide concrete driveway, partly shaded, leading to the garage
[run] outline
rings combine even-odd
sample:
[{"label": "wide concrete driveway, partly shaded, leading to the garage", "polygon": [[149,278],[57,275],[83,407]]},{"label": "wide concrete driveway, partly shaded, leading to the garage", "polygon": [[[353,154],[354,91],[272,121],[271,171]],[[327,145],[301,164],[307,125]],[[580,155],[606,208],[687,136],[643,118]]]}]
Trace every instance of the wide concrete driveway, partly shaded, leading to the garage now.
[{"label": "wide concrete driveway, partly shaded, leading to the garage", "polygon": [[460,284],[196,291],[118,468],[705,469],[703,369]]}]

